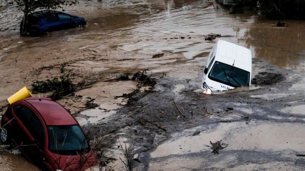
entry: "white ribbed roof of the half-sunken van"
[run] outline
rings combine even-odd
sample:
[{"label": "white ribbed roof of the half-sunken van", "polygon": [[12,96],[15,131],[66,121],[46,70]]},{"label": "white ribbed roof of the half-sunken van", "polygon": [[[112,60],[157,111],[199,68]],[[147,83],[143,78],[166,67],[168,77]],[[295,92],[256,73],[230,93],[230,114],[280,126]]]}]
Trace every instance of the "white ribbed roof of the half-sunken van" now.
[{"label": "white ribbed roof of the half-sunken van", "polygon": [[228,65],[233,65],[234,63],[235,67],[249,72],[252,70],[251,51],[246,47],[242,47],[224,40],[217,41],[215,61]]}]

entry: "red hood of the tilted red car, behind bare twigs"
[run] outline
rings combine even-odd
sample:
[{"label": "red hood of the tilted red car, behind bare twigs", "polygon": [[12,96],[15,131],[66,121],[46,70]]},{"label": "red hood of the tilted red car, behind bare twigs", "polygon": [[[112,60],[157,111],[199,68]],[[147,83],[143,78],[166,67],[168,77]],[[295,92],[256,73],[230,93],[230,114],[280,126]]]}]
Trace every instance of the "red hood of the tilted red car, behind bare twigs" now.
[{"label": "red hood of the tilted red car, behind bare twigs", "polygon": [[52,153],[49,159],[53,170],[83,171],[96,165],[96,157],[92,151],[81,155],[59,155]]}]

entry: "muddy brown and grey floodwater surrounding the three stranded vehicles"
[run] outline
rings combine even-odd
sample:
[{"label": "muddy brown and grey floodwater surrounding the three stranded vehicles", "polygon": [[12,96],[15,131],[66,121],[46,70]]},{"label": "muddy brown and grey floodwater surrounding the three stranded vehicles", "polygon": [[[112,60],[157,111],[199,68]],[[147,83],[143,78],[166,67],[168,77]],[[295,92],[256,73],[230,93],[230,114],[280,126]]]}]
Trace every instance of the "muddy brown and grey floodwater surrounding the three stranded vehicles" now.
[{"label": "muddy brown and grey floodwater surrounding the three stranded vehicles", "polygon": [[[36,80],[58,75],[59,66],[66,63],[66,67],[76,74],[75,82],[98,80],[75,92],[75,96],[58,101],[73,114],[80,111],[75,117],[81,125],[90,127],[103,122],[106,126],[102,129],[111,132],[116,123],[133,118],[128,115],[128,120],[122,119],[121,113],[130,110],[127,107],[138,106],[142,106],[142,111],[137,111],[142,114],[149,111],[152,116],[158,112],[158,117],[152,119],[161,118],[155,122],[162,124],[163,120],[167,121],[164,126],[167,133],[164,134],[155,133],[151,127],[143,125],[129,125],[121,130],[119,136],[135,145],[137,156],[142,160],[137,163],[140,170],[302,168],[303,158],[295,157],[295,154],[305,152],[302,131],[305,120],[305,79],[302,74],[305,67],[304,21],[284,20],[286,27],[276,27],[277,21],[261,18],[252,12],[229,14],[213,0],[79,2],[64,9],[67,13],[84,17],[87,26],[52,32],[45,37],[19,37],[22,14],[16,7],[0,2],[1,106],[5,106],[6,99],[23,86],[30,88]],[[253,86],[251,89],[258,89],[257,92],[250,91],[248,94],[239,90],[237,94],[231,92],[232,96],[228,94],[225,97],[203,95],[200,90],[201,73],[216,42],[205,40],[204,35],[209,33],[221,34],[222,37],[216,40],[249,48],[253,58],[257,58],[253,63],[253,76],[272,68],[272,71],[285,75],[286,80],[271,87]],[[164,55],[152,58],[158,53]],[[153,90],[155,95],[161,94],[150,94],[135,106],[127,106],[126,98],[115,96],[137,89],[138,82],[103,81],[145,68],[149,68],[152,76],[158,79]],[[148,88],[142,87],[141,91],[145,90]],[[88,98],[94,99],[99,107],[84,110]],[[184,105],[180,108],[185,115],[190,115],[189,118],[178,115],[176,108],[168,109],[172,107],[172,99],[177,101],[178,106]],[[213,112],[218,110],[220,113],[203,117],[206,116],[203,106],[208,111],[213,108]],[[235,114],[222,115],[226,107],[234,108]],[[193,115],[196,112],[203,116]],[[245,118],[253,116],[253,119],[247,121],[236,114]],[[172,117],[172,120],[162,118],[166,116]],[[185,126],[173,126],[175,124]],[[134,135],[134,129],[146,132]],[[198,130],[206,131],[198,136],[189,136]],[[149,137],[149,133],[150,136],[155,134]],[[220,154],[227,160],[218,160],[216,155],[211,154],[210,141],[219,140],[228,144],[223,149],[224,153]],[[276,140],[278,142],[274,142]],[[109,151],[109,155],[119,161],[114,154],[117,152]],[[260,160],[260,155],[266,157]],[[269,163],[267,158],[272,158]],[[294,162],[298,164],[292,167]],[[5,171],[20,170],[20,165],[29,166],[23,167],[23,171],[35,170],[20,154],[2,155],[0,165]]]}]

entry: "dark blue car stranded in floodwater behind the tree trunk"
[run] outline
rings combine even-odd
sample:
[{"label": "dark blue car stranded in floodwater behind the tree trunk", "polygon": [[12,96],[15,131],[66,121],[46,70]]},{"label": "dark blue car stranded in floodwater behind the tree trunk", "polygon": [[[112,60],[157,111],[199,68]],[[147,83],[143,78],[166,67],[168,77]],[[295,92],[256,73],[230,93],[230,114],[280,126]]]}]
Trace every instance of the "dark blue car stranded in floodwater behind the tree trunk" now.
[{"label": "dark blue car stranded in floodwater behind the tree trunk", "polygon": [[[75,27],[83,27],[87,22],[84,18],[72,16],[59,11],[38,11],[28,16],[26,34],[32,36],[44,36],[49,32]],[[22,31],[23,21],[20,24]]]}]

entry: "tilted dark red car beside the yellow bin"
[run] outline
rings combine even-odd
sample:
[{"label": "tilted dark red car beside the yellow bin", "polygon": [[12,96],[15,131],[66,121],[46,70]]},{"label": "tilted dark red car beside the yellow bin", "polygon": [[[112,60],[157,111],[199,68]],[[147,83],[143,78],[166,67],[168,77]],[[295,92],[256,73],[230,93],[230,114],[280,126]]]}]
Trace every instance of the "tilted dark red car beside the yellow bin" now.
[{"label": "tilted dark red car beside the yellow bin", "polygon": [[11,141],[42,170],[83,171],[96,164],[84,131],[59,103],[26,98],[2,116],[0,140]]}]

